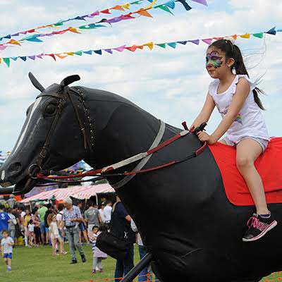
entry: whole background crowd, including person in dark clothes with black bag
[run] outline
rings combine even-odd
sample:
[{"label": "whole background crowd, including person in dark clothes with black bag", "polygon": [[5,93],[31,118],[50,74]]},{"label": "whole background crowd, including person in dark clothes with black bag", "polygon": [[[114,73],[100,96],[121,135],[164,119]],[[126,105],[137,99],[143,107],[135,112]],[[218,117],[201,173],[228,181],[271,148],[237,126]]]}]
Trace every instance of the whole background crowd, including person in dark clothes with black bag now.
[{"label": "whole background crowd, including person in dark clothes with black bag", "polygon": [[[32,209],[22,204],[4,207],[0,203],[1,251],[7,271],[11,271],[13,246],[20,245],[20,238],[24,238],[25,247],[51,245],[53,256],[66,255],[64,245],[68,243],[71,264],[78,263],[75,250],[81,261],[86,262],[82,245],[92,245],[92,274],[102,272],[102,260],[107,255],[99,250],[96,242],[102,231],[111,231],[119,238],[126,238],[131,246],[124,259],[116,260],[114,276],[118,280],[128,274],[134,267],[133,245],[137,243],[140,259],[146,255],[146,249],[120,198],[116,196],[114,205],[111,201],[103,202],[99,209],[91,201],[84,206],[82,201],[73,202],[70,197],[59,204],[37,202]],[[148,268],[143,269],[138,281],[147,281],[149,274]]]}]

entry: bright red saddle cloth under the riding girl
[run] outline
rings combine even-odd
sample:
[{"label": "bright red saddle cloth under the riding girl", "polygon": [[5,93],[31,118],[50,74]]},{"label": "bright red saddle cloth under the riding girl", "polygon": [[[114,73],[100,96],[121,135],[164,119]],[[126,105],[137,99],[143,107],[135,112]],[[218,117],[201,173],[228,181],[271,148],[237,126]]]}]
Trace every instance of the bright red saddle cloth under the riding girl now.
[{"label": "bright red saddle cloth under the riding girl", "polygon": [[[209,145],[219,166],[228,200],[236,206],[254,205],[243,176],[236,166],[236,149],[216,142]],[[267,203],[282,202],[282,137],[271,138],[264,154],[255,161],[262,177]]]}]

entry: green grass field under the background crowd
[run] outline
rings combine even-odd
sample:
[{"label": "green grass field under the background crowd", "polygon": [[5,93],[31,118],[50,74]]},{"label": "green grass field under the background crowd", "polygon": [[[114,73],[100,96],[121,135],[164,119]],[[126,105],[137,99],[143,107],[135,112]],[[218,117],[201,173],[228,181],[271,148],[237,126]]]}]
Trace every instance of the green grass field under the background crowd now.
[{"label": "green grass field under the background crowd", "polygon": [[[92,252],[90,246],[83,246],[87,262],[70,264],[71,255],[52,257],[51,247],[16,247],[13,250],[12,271],[7,272],[4,259],[0,260],[1,282],[90,282],[114,281],[116,260],[109,257],[102,262],[104,272],[92,274]],[[68,251],[68,245],[66,245]],[[135,263],[139,260],[135,246]],[[107,278],[107,279],[105,279]],[[137,281],[137,279],[135,279]],[[281,274],[272,274],[264,282],[282,281]],[[176,281],[171,281],[176,282]]]}]

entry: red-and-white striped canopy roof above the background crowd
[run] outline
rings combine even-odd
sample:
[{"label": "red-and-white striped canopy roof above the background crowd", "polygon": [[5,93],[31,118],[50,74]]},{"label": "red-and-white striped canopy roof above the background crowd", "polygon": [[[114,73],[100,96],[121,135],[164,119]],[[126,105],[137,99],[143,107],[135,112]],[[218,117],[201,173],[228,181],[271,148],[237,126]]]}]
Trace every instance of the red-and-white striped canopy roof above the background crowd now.
[{"label": "red-and-white striped canopy roof above the background crowd", "polygon": [[109,184],[99,184],[90,186],[73,186],[70,188],[55,189],[51,191],[44,191],[32,197],[28,197],[20,202],[32,202],[37,200],[49,200],[55,198],[56,200],[65,200],[67,197],[74,197],[76,199],[89,199],[99,193],[114,192],[114,188]]}]

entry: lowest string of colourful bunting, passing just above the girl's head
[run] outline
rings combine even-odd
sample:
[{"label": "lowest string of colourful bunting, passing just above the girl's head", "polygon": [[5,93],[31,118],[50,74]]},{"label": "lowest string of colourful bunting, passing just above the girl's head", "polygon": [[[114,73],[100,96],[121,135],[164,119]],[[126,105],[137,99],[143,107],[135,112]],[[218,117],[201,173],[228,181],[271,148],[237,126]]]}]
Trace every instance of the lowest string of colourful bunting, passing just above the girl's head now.
[{"label": "lowest string of colourful bunting, passing just above the girl's head", "polygon": [[148,47],[150,50],[152,50],[154,48],[154,46],[158,46],[161,48],[166,48],[166,46],[171,47],[173,49],[176,49],[177,44],[187,44],[188,42],[192,43],[192,44],[196,44],[199,45],[200,42],[204,42],[205,44],[211,44],[212,40],[214,39],[225,39],[227,37],[233,37],[235,40],[238,39],[238,37],[241,38],[245,38],[245,39],[250,39],[251,36],[252,37],[257,37],[259,39],[262,39],[264,37],[264,34],[268,34],[268,35],[276,35],[277,32],[282,32],[282,28],[280,29],[276,29],[276,27],[272,27],[270,30],[266,31],[266,32],[257,32],[257,33],[245,33],[243,35],[228,35],[228,36],[223,36],[223,37],[210,37],[210,38],[204,38],[204,39],[192,39],[192,40],[182,40],[182,41],[177,41],[177,42],[164,42],[164,43],[154,43],[154,42],[148,42],[145,44],[141,44],[141,45],[133,45],[133,46],[129,46],[126,47],[126,45],[120,46],[120,47],[115,47],[115,48],[109,48],[109,49],[97,49],[97,50],[80,50],[80,51],[68,51],[68,52],[63,52],[63,53],[51,53],[51,54],[38,54],[38,55],[32,55],[32,56],[12,56],[12,57],[6,57],[6,58],[1,58],[0,57],[0,64],[2,62],[6,63],[6,65],[9,67],[11,60],[13,61],[17,61],[18,59],[21,59],[23,61],[27,61],[27,59],[31,59],[33,61],[35,61],[35,59],[43,59],[44,56],[50,56],[51,58],[54,59],[54,61],[56,61],[56,58],[59,59],[65,59],[67,56],[74,56],[74,55],[78,55],[78,56],[82,56],[83,54],[88,54],[88,55],[92,55],[92,54],[99,54],[102,55],[103,53],[109,53],[109,54],[113,54],[114,51],[118,51],[118,52],[122,52],[125,49],[131,52],[136,51],[137,49],[144,49],[144,47]]}]

